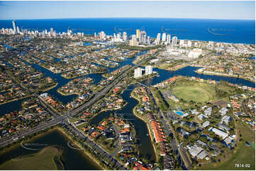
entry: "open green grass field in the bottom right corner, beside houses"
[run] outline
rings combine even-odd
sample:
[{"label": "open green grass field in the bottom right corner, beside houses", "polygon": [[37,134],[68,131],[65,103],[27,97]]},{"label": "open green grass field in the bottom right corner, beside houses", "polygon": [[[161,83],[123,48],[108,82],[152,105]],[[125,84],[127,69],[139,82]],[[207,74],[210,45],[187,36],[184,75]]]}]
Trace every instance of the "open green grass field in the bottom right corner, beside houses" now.
[{"label": "open green grass field in the bottom right corner, beside houses", "polygon": [[[242,134],[243,141],[238,142],[238,146],[228,154],[227,158],[221,163],[211,163],[203,165],[199,170],[255,170],[255,149],[252,146],[246,146],[245,142],[255,142],[255,132],[249,126],[238,123],[239,134]],[[235,167],[235,164],[250,164],[247,167]]]}]

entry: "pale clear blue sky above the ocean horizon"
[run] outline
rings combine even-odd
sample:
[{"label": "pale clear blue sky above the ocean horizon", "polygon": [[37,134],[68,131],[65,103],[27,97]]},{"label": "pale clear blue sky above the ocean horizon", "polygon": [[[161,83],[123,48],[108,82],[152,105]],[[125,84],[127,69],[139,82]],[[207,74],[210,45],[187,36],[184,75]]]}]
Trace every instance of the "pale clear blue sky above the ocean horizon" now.
[{"label": "pale clear blue sky above the ocean horizon", "polygon": [[0,1],[0,20],[220,18],[255,20],[255,1]]}]

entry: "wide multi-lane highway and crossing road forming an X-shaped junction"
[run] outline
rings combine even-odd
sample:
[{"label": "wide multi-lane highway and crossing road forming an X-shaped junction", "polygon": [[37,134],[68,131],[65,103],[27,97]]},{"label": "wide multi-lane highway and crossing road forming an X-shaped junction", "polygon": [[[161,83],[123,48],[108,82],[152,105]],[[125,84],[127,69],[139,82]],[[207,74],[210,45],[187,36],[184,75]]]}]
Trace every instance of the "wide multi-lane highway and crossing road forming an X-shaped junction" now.
[{"label": "wide multi-lane highway and crossing road forming an X-shaped junction", "polygon": [[[39,124],[38,126],[33,127],[33,129],[27,129],[24,130],[18,134],[15,134],[13,136],[9,136],[7,138],[1,138],[0,140],[0,146],[6,146],[9,143],[13,143],[13,139],[19,139],[19,138],[23,138],[25,136],[34,134],[38,131],[42,131],[47,129],[50,126],[55,126],[57,124],[60,123],[64,123],[66,125],[69,125],[69,131],[72,131],[74,133],[74,135],[77,136],[81,136],[82,138],[84,138],[84,141],[86,143],[88,143],[91,147],[96,148],[97,151],[99,151],[99,153],[102,153],[104,156],[106,155],[112,162],[115,162],[116,165],[118,166],[118,168],[120,168],[121,170],[126,170],[126,167],[123,167],[123,165],[116,160],[115,158],[113,158],[113,154],[108,154],[106,153],[106,151],[104,151],[103,148],[101,148],[98,144],[94,143],[93,141],[91,141],[89,138],[87,138],[87,136],[85,136],[84,134],[82,134],[81,131],[79,131],[75,126],[73,126],[72,124],[70,124],[68,122],[68,119],[71,118],[72,116],[74,116],[75,114],[78,114],[79,112],[82,112],[82,110],[84,110],[86,107],[90,107],[94,102],[96,102],[97,100],[101,99],[102,95],[105,95],[108,90],[110,90],[113,86],[115,86],[118,81],[120,81],[121,79],[123,79],[126,74],[134,69],[135,67],[140,66],[141,63],[136,64],[135,66],[132,66],[130,69],[127,69],[126,71],[123,71],[123,73],[121,73],[112,83],[110,83],[108,86],[106,86],[104,89],[102,89],[99,93],[97,93],[94,98],[91,98],[91,100],[89,100],[88,102],[84,103],[83,105],[81,105],[80,107],[77,107],[76,109],[69,111],[69,112],[65,112],[62,115],[58,112],[56,112],[55,110],[52,109],[52,107],[50,107],[46,102],[44,102],[44,100],[42,100],[39,95],[33,93],[33,95],[35,95],[35,97],[37,97],[40,100],[40,104],[50,113],[52,114],[52,116],[54,116],[54,119],[51,119],[48,122],[43,122],[41,124]],[[30,90],[31,91],[31,90]]]}]

